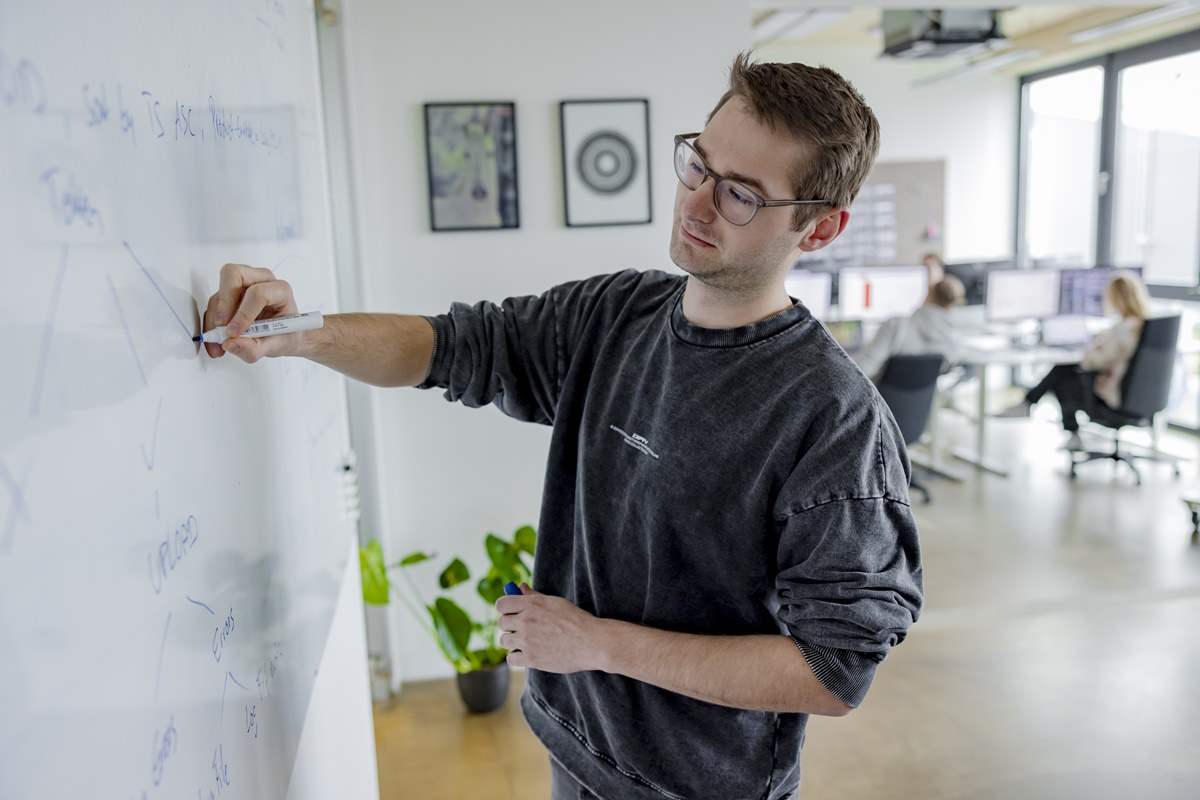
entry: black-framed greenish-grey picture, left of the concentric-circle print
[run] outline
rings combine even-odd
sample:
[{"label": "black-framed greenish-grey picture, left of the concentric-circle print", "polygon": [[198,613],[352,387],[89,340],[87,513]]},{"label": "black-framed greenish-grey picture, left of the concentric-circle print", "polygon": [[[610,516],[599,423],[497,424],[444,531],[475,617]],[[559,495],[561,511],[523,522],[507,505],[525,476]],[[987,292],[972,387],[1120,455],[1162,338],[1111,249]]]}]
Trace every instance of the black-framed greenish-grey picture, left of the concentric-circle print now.
[{"label": "black-framed greenish-grey picture, left of the concentric-circle print", "polygon": [[514,103],[426,103],[433,230],[521,227]]}]

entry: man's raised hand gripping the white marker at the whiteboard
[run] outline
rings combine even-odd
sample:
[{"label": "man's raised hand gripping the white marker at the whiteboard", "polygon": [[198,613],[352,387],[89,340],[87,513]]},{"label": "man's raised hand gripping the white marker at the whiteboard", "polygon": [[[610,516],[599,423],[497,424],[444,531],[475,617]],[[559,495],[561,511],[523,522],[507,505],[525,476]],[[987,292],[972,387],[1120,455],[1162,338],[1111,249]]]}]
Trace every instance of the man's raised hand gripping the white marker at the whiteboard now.
[{"label": "man's raised hand gripping the white marker at the whiteboard", "polygon": [[275,277],[270,270],[245,264],[221,267],[221,287],[209,299],[204,312],[204,329],[224,325],[229,338],[221,344],[204,343],[214,359],[226,353],[253,363],[264,356],[299,355],[298,339],[304,333],[284,333],[257,339],[241,338],[240,333],[258,319],[299,313],[292,287]]}]

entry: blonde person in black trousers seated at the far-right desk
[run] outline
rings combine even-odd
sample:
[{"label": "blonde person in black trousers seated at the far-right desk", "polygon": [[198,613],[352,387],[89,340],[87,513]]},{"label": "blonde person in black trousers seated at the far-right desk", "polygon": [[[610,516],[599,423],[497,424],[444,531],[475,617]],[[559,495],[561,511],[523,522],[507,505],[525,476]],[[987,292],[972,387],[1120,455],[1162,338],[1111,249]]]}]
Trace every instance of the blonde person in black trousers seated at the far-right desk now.
[{"label": "blonde person in black trousers seated at the far-right desk", "polygon": [[1084,450],[1075,415],[1084,409],[1087,385],[1081,372],[1094,372],[1092,391],[1109,408],[1121,407],[1121,379],[1129,367],[1129,359],[1138,349],[1141,324],[1150,312],[1150,294],[1136,272],[1114,272],[1104,287],[1104,307],[1121,315],[1120,321],[1092,337],[1079,363],[1054,367],[1037,386],[1014,405],[996,416],[1028,416],[1033,404],[1046,392],[1054,392],[1062,409],[1062,427],[1069,438],[1068,450]]}]

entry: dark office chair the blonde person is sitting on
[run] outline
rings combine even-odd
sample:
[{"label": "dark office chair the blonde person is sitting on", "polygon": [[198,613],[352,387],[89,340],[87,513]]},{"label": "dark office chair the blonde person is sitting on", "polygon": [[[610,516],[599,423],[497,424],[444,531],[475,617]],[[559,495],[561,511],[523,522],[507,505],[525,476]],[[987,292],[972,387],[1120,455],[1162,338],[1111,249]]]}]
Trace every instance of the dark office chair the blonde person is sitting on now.
[{"label": "dark office chair the blonde person is sitting on", "polygon": [[1134,480],[1141,486],[1141,473],[1134,463],[1135,458],[1170,462],[1175,467],[1175,476],[1180,476],[1180,465],[1170,457],[1157,452],[1134,453],[1121,450],[1121,428],[1152,427],[1154,415],[1166,408],[1171,392],[1171,371],[1175,366],[1175,347],[1180,338],[1180,315],[1147,319],[1141,329],[1138,349],[1129,360],[1129,369],[1121,380],[1121,408],[1109,408],[1092,391],[1094,372],[1081,373],[1087,385],[1084,391],[1084,410],[1092,422],[1112,428],[1117,435],[1110,451],[1074,451],[1070,455],[1070,476],[1075,477],[1075,468],[1099,458],[1123,462],[1133,470]]}]

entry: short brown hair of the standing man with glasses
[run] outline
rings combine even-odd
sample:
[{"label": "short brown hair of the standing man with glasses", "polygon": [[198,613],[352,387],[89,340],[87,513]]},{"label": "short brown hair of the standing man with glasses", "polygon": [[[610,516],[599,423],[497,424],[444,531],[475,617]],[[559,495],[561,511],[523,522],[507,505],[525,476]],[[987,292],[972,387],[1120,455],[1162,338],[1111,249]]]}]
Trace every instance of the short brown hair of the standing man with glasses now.
[{"label": "short brown hair of the standing man with glasses", "polygon": [[[828,67],[805,64],[752,64],[739,53],[730,68],[730,89],[709,119],[731,97],[773,131],[786,131],[812,149],[791,175],[797,199],[821,198],[829,207],[850,207],[880,152],[880,122],[848,80]],[[822,206],[796,206],[796,228]]]}]

